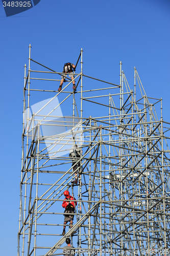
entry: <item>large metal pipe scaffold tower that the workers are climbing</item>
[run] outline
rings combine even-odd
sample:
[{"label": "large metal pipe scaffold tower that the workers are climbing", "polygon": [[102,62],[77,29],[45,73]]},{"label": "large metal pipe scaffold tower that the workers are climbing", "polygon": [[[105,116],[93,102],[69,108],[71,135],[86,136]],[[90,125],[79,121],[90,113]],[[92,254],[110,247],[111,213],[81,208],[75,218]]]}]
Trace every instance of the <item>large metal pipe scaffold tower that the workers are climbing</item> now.
[{"label": "large metal pipe scaffold tower that the workers are climbing", "polygon": [[[29,49],[18,256],[62,255],[67,237],[78,255],[167,255],[170,125],[162,99],[147,97],[136,68],[132,90],[121,61],[119,84],[85,75],[82,49],[77,91],[68,76],[58,92],[63,73],[33,60]],[[65,190],[77,206],[62,236]]]}]

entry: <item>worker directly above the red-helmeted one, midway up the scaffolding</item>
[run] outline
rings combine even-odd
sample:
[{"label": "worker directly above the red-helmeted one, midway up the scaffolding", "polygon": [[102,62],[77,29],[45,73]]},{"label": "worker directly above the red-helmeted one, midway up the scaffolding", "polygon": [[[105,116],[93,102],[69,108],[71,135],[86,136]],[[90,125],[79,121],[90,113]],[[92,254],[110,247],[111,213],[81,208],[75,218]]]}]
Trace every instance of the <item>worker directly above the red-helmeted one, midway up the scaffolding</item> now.
[{"label": "worker directly above the red-helmeted one, midway up the scaffolding", "polygon": [[78,160],[81,157],[81,148],[77,146],[77,144],[75,146],[73,146],[70,151],[69,151],[69,157],[72,160],[72,166],[74,166],[76,163],[76,165],[72,168],[72,172],[75,172],[75,180],[71,181],[71,183],[74,184],[78,184],[79,181],[79,177],[78,177],[78,172],[80,172],[80,165],[81,165],[81,161],[78,162]]}]

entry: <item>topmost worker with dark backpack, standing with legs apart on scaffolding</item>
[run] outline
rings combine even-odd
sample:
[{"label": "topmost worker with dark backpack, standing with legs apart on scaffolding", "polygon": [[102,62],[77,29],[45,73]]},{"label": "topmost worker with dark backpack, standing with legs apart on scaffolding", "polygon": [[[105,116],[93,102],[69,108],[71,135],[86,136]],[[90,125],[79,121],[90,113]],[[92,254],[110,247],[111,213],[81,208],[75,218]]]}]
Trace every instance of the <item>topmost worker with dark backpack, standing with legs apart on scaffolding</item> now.
[{"label": "topmost worker with dark backpack, standing with legs apart on scaffolding", "polygon": [[[70,62],[67,62],[64,64],[64,68],[63,68],[63,73],[67,73],[69,74],[71,80],[73,80],[75,78],[75,75],[74,75],[74,71],[76,71],[76,66]],[[60,82],[60,87],[58,89],[58,92],[61,91],[62,89],[62,85],[63,85],[63,82],[65,82],[65,78],[67,77],[67,75],[63,74],[61,76],[61,82]],[[76,91],[76,84],[75,84],[75,80],[72,81],[72,84],[73,84],[73,87],[72,89],[74,90],[74,92]]]}]

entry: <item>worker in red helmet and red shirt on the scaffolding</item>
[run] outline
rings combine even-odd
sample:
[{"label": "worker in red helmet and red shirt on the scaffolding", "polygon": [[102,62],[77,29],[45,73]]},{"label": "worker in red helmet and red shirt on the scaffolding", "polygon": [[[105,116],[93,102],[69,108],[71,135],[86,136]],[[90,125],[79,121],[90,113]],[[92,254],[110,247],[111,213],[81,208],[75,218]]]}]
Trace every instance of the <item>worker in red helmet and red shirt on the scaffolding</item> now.
[{"label": "worker in red helmet and red shirt on the scaffolding", "polygon": [[[64,226],[63,226],[62,236],[64,236],[65,234],[65,226],[68,221],[70,222],[70,228],[72,227],[72,223],[74,220],[75,206],[77,205],[76,201],[75,202],[71,201],[76,199],[69,195],[68,190],[64,191],[64,196],[65,196],[65,199],[62,203],[62,207],[65,208],[65,210],[64,210]],[[71,236],[73,236],[75,233],[76,231],[73,231],[71,233]]]}]

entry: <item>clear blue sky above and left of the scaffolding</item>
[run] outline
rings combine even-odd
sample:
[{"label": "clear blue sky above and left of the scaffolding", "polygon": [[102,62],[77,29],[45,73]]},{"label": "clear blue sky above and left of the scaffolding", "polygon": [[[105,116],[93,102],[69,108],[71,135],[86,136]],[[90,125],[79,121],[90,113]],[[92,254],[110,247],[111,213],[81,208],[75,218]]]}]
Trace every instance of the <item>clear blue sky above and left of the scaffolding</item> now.
[{"label": "clear blue sky above and left of the scaffolding", "polygon": [[81,48],[86,75],[119,83],[121,60],[133,86],[135,66],[147,95],[163,98],[164,120],[169,121],[170,2],[41,0],[11,17],[6,17],[0,2],[0,26],[0,254],[13,256],[19,219],[23,66],[28,66],[29,44],[33,59],[59,72],[64,62],[76,62]]}]

